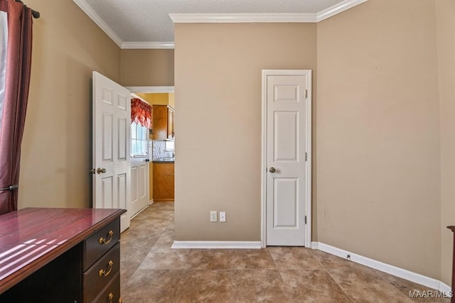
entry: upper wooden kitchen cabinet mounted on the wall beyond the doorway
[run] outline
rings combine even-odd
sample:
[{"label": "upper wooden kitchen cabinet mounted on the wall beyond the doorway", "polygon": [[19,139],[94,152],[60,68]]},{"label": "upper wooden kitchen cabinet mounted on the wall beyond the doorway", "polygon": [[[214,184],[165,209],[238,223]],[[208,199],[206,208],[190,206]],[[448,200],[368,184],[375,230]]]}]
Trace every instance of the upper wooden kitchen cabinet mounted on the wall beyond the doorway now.
[{"label": "upper wooden kitchen cabinet mounted on the wall beyond the doorway", "polygon": [[167,105],[153,106],[152,140],[173,140],[174,110]]}]

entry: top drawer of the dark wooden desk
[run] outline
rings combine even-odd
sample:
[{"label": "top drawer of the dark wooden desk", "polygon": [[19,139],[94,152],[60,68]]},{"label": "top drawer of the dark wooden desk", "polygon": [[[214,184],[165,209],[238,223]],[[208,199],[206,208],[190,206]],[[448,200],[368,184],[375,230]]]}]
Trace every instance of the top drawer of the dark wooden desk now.
[{"label": "top drawer of the dark wooden desk", "polygon": [[120,219],[112,221],[84,241],[84,265],[87,270],[120,240]]}]

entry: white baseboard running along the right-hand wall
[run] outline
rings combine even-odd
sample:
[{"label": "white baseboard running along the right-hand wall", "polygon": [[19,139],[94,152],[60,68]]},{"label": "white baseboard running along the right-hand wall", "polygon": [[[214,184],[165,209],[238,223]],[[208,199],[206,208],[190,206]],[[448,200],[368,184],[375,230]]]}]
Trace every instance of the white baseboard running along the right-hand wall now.
[{"label": "white baseboard running along the right-hand wall", "polygon": [[329,246],[321,242],[311,242],[311,248],[319,249],[326,253],[330,253],[331,255],[337,255],[338,257],[344,259],[347,259],[347,256],[349,255],[351,261],[368,266],[369,268],[374,268],[375,270],[387,272],[390,275],[401,277],[405,280],[409,280],[417,284],[430,287],[434,290],[439,290],[440,292],[449,293],[451,291],[451,287],[449,285],[446,285],[445,283],[439,280],[433,279],[432,277],[426,277],[416,272],[411,272],[409,270],[397,268],[396,266],[387,263],[382,263],[380,261],[364,257],[363,255],[350,253],[348,250],[343,250],[341,248]]}]

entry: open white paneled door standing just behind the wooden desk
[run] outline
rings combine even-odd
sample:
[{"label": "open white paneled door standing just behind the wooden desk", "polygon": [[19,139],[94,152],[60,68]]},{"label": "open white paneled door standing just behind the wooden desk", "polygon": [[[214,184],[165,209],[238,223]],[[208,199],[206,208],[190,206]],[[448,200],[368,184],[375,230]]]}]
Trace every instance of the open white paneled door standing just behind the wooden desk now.
[{"label": "open white paneled door standing just behind the wooden desk", "polygon": [[93,208],[126,209],[120,231],[129,227],[131,100],[129,90],[93,72]]}]

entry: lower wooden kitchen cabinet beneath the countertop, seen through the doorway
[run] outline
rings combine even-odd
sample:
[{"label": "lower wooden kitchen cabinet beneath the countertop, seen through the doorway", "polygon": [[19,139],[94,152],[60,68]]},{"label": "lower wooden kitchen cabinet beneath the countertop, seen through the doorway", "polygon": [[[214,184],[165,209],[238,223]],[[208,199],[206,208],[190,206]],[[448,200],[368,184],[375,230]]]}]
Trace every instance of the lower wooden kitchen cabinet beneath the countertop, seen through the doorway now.
[{"label": "lower wooden kitchen cabinet beneath the countertop, seen through the doorway", "polygon": [[154,162],[154,202],[173,202],[174,163]]}]

